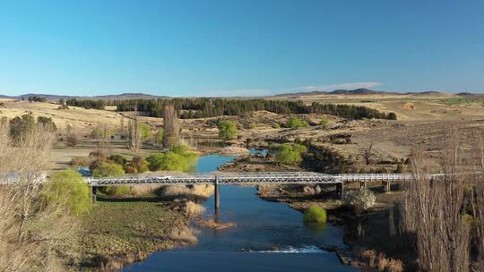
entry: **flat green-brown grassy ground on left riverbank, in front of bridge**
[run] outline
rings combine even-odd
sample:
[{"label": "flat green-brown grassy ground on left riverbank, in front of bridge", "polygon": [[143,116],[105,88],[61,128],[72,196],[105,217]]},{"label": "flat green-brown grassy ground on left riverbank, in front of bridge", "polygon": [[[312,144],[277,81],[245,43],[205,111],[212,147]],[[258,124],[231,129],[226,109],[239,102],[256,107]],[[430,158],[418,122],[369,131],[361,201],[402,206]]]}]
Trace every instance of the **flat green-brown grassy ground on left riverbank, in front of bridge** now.
[{"label": "flat green-brown grassy ground on left riverbank, in front of bridge", "polygon": [[188,220],[155,199],[100,200],[83,218],[83,266],[120,268],[163,251],[196,242]]}]

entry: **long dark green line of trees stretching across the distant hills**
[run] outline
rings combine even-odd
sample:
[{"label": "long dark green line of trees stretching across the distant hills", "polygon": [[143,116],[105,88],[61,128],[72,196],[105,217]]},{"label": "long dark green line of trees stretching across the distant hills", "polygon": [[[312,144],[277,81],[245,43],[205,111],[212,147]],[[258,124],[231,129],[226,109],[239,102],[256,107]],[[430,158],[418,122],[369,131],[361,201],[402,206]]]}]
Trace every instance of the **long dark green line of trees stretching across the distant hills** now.
[{"label": "long dark green line of trees stretching across the distant hills", "polygon": [[367,106],[341,104],[321,104],[313,102],[306,105],[302,101],[283,101],[265,99],[224,99],[224,98],[173,98],[173,99],[129,99],[129,100],[77,100],[66,101],[68,106],[104,109],[117,106],[118,111],[142,111],[151,117],[162,117],[165,105],[174,105],[182,119],[214,117],[220,115],[244,115],[252,111],[265,110],[276,114],[321,114],[336,115],[348,119],[376,118],[392,119],[394,113],[383,113]]}]

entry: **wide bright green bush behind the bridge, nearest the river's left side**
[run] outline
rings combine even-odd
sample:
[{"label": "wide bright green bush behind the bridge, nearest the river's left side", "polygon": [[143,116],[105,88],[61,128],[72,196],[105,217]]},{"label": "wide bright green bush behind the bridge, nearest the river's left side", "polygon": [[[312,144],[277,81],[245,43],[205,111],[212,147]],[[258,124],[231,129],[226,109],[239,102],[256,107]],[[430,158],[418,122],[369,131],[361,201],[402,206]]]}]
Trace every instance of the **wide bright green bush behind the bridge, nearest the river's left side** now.
[{"label": "wide bright green bush behind the bridge, nearest the river's left side", "polygon": [[176,146],[169,151],[153,154],[146,158],[151,171],[192,172],[198,155],[186,146]]}]

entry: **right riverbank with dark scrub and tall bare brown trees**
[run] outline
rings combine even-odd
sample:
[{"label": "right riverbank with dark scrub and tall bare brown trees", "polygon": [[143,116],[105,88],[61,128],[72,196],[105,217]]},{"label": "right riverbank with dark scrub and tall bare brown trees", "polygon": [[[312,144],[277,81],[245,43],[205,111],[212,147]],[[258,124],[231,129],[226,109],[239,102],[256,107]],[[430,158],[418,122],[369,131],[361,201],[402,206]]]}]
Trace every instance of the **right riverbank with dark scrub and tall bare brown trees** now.
[{"label": "right riverbank with dark scrub and tall bare brown trees", "polygon": [[[403,191],[381,193],[380,184],[370,183],[368,189],[347,184],[342,201],[333,200],[324,187],[263,187],[259,194],[290,202],[311,221],[315,207],[327,208],[330,222],[345,225],[345,242],[357,256],[351,263],[363,271],[481,271],[484,139],[480,132],[467,133],[451,130],[439,140],[437,171],[445,175],[436,180],[428,178],[428,155],[413,149],[408,167],[417,179],[399,183]],[[473,149],[465,149],[467,144]],[[474,174],[457,174],[462,171]]]}]

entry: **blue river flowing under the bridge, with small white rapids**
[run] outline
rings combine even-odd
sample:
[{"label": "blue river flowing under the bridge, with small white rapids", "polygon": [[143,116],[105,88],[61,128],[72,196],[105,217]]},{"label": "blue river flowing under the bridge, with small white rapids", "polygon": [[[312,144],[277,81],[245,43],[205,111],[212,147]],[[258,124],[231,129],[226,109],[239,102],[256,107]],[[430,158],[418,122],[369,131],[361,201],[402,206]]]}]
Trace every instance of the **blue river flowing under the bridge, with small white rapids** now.
[{"label": "blue river flowing under the bridge, with small white rapids", "polygon": [[[200,157],[197,171],[216,171],[234,158]],[[302,213],[286,203],[262,200],[256,192],[255,187],[221,185],[219,219],[234,222],[235,227],[199,228],[195,246],[156,252],[123,271],[356,271],[320,249],[344,246],[339,227],[305,225]],[[213,201],[212,197],[205,202],[203,217],[214,216]]]}]

